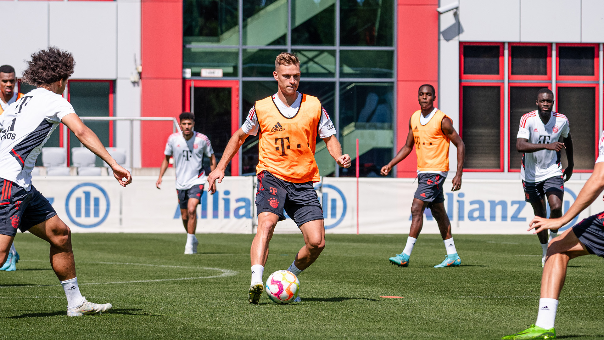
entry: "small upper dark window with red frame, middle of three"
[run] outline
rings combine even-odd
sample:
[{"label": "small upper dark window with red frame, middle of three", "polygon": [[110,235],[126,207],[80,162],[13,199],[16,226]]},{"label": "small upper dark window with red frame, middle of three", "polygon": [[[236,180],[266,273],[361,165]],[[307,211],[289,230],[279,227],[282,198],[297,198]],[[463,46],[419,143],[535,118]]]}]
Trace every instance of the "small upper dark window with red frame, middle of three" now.
[{"label": "small upper dark window with red frame, middle of three", "polygon": [[547,75],[547,46],[512,46],[512,74]]}]

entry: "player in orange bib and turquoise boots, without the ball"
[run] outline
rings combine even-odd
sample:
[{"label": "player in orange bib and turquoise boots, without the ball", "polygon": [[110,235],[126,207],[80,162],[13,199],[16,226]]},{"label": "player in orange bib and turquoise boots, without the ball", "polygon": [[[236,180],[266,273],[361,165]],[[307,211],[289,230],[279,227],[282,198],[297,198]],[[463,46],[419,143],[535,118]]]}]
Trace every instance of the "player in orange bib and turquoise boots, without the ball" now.
[{"label": "player in orange bib and turquoise boots, without the ball", "polygon": [[415,143],[418,185],[411,205],[411,215],[413,215],[411,230],[403,252],[389,259],[391,263],[399,267],[409,265],[411,251],[422,231],[423,211],[426,208],[430,208],[439,224],[440,235],[443,237],[447,251],[445,260],[434,267],[455,267],[461,264],[451,236],[451,222],[445,211],[445,204],[443,204],[445,201],[443,184],[449,172],[449,141],[451,141],[457,147],[457,172],[453,177],[452,191],[461,188],[461,173],[466,156],[466,146],[455,131],[451,118],[434,107],[435,98],[436,94],[432,85],[420,86],[417,100],[421,110],[415,111],[409,120],[409,134],[405,146],[381,171],[382,175],[388,175],[394,165],[411,153]]}]

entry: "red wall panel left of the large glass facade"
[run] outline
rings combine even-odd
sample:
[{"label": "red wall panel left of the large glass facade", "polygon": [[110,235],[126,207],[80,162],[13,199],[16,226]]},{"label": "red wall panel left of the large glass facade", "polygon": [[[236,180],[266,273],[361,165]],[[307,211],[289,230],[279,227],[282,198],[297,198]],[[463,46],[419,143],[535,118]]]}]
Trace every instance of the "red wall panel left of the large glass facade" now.
[{"label": "red wall panel left of the large glass facade", "polygon": [[[143,0],[141,10],[141,116],[178,117],[182,112],[182,0]],[[141,123],[141,162],[158,167],[168,122]]]}]

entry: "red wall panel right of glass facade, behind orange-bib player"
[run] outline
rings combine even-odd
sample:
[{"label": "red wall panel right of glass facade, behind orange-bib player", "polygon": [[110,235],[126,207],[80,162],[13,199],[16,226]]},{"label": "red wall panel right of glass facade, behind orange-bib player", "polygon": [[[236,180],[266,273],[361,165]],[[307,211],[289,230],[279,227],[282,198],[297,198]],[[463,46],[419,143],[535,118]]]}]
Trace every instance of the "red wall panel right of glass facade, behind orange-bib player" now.
[{"label": "red wall panel right of glass facade, behind orange-bib player", "polygon": [[[439,7],[435,0],[397,2],[397,151],[405,145],[409,120],[419,110],[417,89],[437,88],[439,79]],[[437,93],[438,99],[438,93]],[[434,105],[437,106],[438,101]],[[437,106],[438,107],[438,106]],[[397,166],[396,177],[416,177],[415,152]]]}]

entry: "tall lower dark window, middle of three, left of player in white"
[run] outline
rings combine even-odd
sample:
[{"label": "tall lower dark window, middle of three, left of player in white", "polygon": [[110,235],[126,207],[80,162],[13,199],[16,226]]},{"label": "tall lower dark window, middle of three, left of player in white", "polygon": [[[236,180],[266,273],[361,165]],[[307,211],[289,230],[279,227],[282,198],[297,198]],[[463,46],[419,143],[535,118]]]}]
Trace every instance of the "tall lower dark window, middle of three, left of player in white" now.
[{"label": "tall lower dark window, middle of three, left of player in white", "polygon": [[520,119],[537,110],[537,93],[544,87],[510,87],[510,169],[520,169],[522,154],[516,149]]}]

